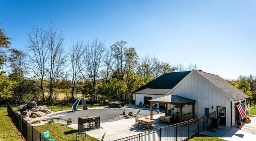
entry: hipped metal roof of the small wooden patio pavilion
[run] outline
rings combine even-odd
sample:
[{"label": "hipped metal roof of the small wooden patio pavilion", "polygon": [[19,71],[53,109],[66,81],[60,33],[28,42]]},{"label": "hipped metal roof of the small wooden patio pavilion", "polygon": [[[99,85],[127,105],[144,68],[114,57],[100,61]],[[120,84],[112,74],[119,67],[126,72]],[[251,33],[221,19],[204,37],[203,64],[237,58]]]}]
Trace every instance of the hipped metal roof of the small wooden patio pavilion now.
[{"label": "hipped metal roof of the small wooden patio pavilion", "polygon": [[166,102],[166,103],[190,103],[190,102],[195,102],[196,100],[182,97],[179,95],[166,95],[164,97],[159,97],[149,101]]}]

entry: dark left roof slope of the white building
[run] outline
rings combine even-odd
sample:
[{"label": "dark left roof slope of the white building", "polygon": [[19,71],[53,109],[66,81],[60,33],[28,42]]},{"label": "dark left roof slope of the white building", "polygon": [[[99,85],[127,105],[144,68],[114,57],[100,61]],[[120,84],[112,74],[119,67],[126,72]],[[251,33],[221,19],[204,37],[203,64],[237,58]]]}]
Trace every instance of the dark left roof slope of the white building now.
[{"label": "dark left roof slope of the white building", "polygon": [[[164,73],[146,85],[136,89],[133,93],[140,94],[167,94],[175,85],[177,85],[191,71]],[[169,91],[168,91],[168,90]]]}]

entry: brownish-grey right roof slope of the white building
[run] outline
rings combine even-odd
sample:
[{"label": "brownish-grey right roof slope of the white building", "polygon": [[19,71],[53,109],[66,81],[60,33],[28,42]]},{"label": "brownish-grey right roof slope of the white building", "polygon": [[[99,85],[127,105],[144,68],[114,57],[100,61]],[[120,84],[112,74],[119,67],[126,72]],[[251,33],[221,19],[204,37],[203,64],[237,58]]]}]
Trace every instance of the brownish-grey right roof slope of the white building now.
[{"label": "brownish-grey right roof slope of the white building", "polygon": [[[195,70],[196,71],[196,70]],[[219,75],[211,74],[211,73],[206,73],[203,71],[196,71],[200,75],[202,75],[204,78],[206,78],[208,81],[210,81],[212,84],[214,84],[216,87],[224,91],[227,95],[232,97],[235,101],[241,100],[241,99],[246,99],[249,98],[248,95],[228,83],[226,80],[224,80],[222,77]]]}]

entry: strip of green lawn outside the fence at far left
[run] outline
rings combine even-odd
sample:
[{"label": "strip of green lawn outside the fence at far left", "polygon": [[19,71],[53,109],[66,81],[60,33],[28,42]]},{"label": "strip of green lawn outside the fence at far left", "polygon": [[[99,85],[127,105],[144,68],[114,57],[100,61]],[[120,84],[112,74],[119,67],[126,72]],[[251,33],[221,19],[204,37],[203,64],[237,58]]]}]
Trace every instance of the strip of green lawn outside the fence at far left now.
[{"label": "strip of green lawn outside the fence at far left", "polygon": [[[0,141],[24,141],[18,130],[6,116],[7,107],[0,106]],[[20,133],[19,133],[20,134]]]}]

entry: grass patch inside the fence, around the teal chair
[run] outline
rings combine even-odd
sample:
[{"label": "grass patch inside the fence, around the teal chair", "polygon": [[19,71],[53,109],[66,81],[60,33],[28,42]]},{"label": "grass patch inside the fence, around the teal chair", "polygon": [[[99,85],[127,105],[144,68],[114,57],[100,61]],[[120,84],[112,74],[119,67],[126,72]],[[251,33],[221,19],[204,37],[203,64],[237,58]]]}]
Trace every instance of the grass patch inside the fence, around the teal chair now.
[{"label": "grass patch inside the fence, around the teal chair", "polygon": [[[52,138],[54,138],[54,135],[56,135],[58,137],[58,141],[75,141],[76,140],[76,130],[68,127],[67,125],[63,125],[60,123],[53,123],[53,124],[46,124],[46,125],[34,126],[34,127],[41,133],[50,131],[50,134],[53,135]],[[80,141],[83,140],[82,137],[78,139],[80,139]],[[90,137],[89,135],[86,135],[85,141],[98,141],[98,139],[95,139],[93,137]]]}]

